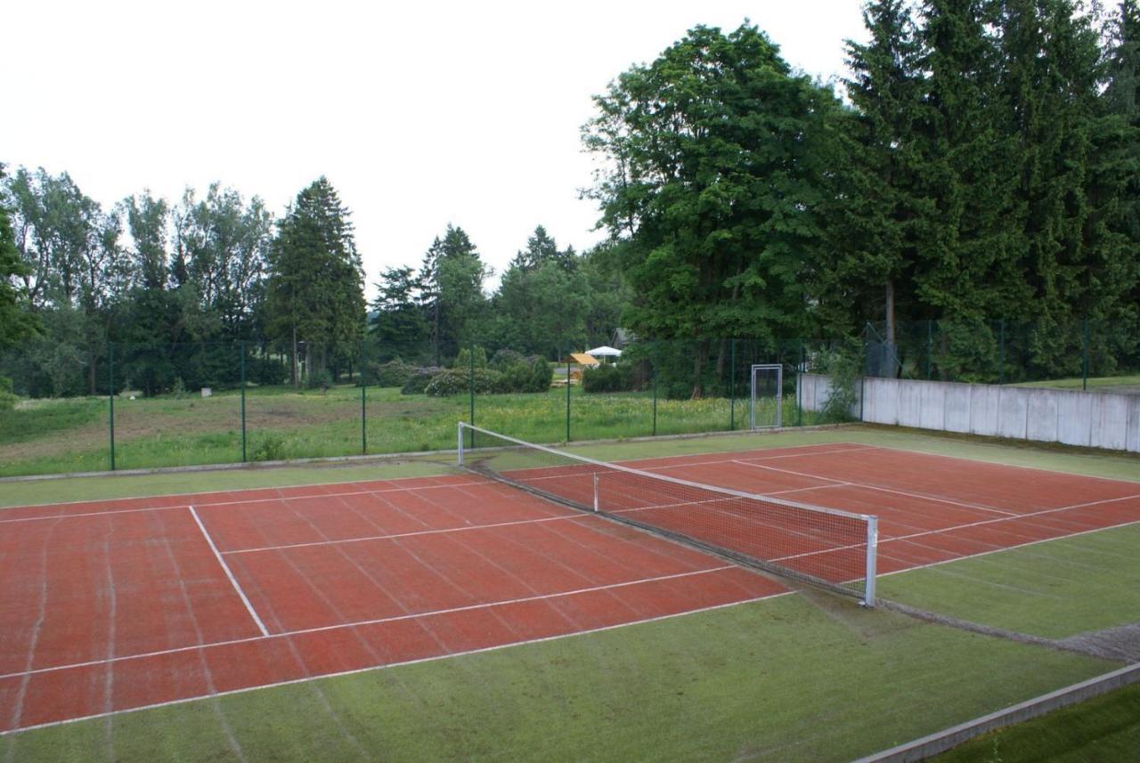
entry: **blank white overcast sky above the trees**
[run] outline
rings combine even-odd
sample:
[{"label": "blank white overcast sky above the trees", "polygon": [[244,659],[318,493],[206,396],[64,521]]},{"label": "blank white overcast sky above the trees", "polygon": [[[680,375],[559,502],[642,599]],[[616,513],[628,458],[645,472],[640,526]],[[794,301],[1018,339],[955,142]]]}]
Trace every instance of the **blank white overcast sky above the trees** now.
[{"label": "blank white overcast sky above the trees", "polygon": [[[325,174],[368,282],[448,222],[495,270],[536,224],[598,240],[578,189],[591,96],[697,24],[746,17],[796,68],[844,73],[858,0],[9,2],[0,162],[71,173],[108,207],[220,180],[280,214]],[[497,280],[497,278],[496,278]]]}]

